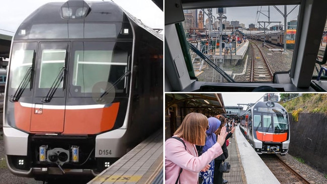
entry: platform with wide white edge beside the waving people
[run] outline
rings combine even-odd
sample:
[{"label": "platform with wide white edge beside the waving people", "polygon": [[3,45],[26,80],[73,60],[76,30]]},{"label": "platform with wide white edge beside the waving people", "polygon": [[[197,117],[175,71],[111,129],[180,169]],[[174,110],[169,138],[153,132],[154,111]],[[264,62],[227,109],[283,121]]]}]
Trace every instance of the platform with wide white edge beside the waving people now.
[{"label": "platform with wide white edge beside the waving people", "polygon": [[280,183],[243,136],[239,125],[229,142],[226,161],[230,163],[230,172],[223,174],[228,184]]}]

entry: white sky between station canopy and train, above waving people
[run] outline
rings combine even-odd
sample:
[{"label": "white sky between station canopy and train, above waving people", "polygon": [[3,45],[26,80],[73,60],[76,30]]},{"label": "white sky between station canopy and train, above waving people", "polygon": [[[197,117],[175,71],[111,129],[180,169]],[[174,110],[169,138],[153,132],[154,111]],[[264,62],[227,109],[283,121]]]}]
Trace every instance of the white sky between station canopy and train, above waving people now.
[{"label": "white sky between station canopy and train, above waving people", "polygon": [[[225,106],[237,106],[237,104],[249,104],[256,103],[259,99],[261,102],[264,101],[262,98],[265,93],[222,93],[222,99]],[[243,106],[244,109],[247,106]]]}]

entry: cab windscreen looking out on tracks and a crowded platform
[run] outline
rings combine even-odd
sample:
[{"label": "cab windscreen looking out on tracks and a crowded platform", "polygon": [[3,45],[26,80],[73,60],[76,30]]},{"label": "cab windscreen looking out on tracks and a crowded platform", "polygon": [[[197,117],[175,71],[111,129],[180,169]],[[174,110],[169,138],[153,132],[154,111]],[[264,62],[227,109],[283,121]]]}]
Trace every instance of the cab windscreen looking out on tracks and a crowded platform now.
[{"label": "cab windscreen looking out on tracks and a crowded platform", "polygon": [[[185,49],[194,77],[198,81],[228,82],[227,74],[235,82],[271,82],[275,72],[290,71],[300,6],[285,7],[184,10],[184,33],[180,34],[198,50]],[[286,22],[281,13],[287,15]]]}]

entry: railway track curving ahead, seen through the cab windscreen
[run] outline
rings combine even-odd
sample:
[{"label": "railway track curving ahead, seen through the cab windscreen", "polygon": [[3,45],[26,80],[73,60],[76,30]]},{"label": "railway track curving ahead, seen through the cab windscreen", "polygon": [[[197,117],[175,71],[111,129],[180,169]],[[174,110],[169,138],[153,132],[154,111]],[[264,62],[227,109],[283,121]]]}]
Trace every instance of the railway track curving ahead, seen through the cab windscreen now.
[{"label": "railway track curving ahead, seen through the cab windscreen", "polygon": [[252,64],[250,76],[247,78],[249,78],[251,82],[273,81],[273,74],[275,71],[269,66],[259,46],[253,41],[250,42],[252,47]]}]

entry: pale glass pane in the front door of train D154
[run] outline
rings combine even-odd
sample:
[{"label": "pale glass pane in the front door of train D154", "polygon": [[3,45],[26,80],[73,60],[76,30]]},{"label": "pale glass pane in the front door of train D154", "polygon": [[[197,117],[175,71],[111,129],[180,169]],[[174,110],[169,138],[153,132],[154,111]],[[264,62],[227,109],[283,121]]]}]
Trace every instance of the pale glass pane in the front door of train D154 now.
[{"label": "pale glass pane in the front door of train D154", "polygon": [[[66,50],[62,49],[44,49],[42,50],[41,70],[39,88],[50,88],[53,81],[58,76],[62,67],[64,67]],[[62,88],[63,81],[58,88]]]}]

